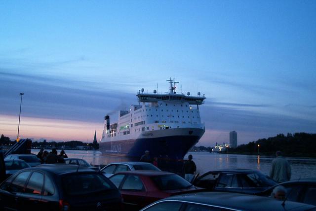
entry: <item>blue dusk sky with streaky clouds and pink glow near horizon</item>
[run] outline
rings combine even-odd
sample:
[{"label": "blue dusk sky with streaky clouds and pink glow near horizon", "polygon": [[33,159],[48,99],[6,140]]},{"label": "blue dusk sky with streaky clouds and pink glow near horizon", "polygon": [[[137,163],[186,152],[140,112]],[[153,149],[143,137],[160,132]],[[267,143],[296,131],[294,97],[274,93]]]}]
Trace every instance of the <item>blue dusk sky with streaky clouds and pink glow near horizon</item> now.
[{"label": "blue dusk sky with streaky clouds and pink glow near horizon", "polygon": [[[141,88],[205,94],[197,145],[316,132],[315,0],[0,1],[0,134],[100,140]],[[112,117],[111,117],[112,118]],[[114,114],[114,118],[116,115]]]}]

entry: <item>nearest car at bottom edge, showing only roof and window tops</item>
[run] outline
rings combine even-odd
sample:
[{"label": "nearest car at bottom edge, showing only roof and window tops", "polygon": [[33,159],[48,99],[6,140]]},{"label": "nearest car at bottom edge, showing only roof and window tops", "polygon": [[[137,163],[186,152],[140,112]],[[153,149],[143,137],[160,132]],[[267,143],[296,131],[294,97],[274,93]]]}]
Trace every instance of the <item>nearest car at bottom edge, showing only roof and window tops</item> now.
[{"label": "nearest car at bottom edge, showing only roof and window tops", "polygon": [[316,211],[312,205],[241,193],[202,192],[171,196],[141,211]]}]

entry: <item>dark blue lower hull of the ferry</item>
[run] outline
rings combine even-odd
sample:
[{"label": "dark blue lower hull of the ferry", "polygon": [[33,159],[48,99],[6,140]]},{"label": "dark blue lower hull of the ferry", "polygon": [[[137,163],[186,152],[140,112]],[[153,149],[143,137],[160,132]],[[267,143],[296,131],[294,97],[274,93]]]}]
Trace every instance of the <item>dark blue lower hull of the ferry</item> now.
[{"label": "dark blue lower hull of the ferry", "polygon": [[[204,131],[203,131],[204,133]],[[201,135],[198,136],[168,136],[160,138],[143,138],[122,141],[101,142],[99,150],[103,154],[132,157],[136,160],[150,151],[150,156],[168,158],[171,160],[182,160],[190,148],[194,146]]]}]

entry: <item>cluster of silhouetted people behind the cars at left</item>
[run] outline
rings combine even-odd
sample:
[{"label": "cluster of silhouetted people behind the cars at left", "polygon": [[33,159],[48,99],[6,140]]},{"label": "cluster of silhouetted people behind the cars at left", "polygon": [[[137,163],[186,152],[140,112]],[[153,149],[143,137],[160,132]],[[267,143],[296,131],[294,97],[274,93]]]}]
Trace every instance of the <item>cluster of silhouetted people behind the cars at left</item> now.
[{"label": "cluster of silhouetted people behind the cars at left", "polygon": [[37,157],[40,158],[41,163],[48,164],[65,163],[64,158],[68,158],[64,150],[61,150],[60,154],[58,154],[55,148],[53,148],[50,152],[41,148]]}]

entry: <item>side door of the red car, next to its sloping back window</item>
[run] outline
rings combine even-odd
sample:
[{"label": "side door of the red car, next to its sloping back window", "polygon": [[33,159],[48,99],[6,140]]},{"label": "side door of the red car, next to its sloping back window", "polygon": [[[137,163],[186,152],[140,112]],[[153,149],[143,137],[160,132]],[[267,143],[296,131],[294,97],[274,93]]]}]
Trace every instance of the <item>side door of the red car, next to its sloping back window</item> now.
[{"label": "side door of the red car, next to its sloping back window", "polygon": [[140,210],[145,207],[147,191],[140,176],[127,175],[119,188],[126,210]]}]

